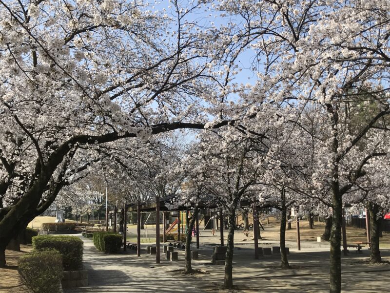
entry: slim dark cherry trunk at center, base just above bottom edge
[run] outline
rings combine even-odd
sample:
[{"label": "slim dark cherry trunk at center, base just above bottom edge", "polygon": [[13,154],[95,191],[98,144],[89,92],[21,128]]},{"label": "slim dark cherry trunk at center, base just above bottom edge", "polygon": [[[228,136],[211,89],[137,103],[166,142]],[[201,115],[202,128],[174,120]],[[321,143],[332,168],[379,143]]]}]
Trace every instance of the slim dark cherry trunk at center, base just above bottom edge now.
[{"label": "slim dark cherry trunk at center, base just above bottom edge", "polygon": [[228,214],[228,241],[225,258],[225,277],[223,283],[224,289],[233,289],[234,228],[235,209],[231,209]]}]

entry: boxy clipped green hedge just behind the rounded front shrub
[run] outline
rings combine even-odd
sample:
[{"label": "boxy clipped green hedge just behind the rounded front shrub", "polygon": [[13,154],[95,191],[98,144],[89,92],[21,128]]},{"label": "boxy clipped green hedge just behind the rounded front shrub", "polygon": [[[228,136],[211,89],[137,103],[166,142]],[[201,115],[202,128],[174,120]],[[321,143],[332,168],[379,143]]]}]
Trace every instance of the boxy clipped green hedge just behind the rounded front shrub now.
[{"label": "boxy clipped green hedge just behind the rounded front shrub", "polygon": [[77,236],[39,235],[33,237],[33,248],[44,250],[56,249],[62,254],[65,271],[82,269],[82,252],[84,243]]}]

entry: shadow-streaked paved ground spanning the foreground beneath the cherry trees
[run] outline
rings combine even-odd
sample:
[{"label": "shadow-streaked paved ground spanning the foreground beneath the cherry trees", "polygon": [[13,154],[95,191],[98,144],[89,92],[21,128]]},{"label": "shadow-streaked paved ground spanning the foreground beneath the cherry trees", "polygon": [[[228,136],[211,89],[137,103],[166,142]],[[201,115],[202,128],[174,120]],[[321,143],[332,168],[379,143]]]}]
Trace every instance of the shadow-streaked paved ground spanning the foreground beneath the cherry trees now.
[{"label": "shadow-streaked paved ground spanning the foreground beneath the cherry trees", "polygon": [[[195,269],[206,270],[208,274],[184,276],[172,272],[184,268],[183,250],[177,250],[177,262],[165,260],[161,253],[161,264],[156,265],[156,256],[145,251],[150,244],[142,245],[141,257],[137,257],[135,251],[107,255],[97,251],[91,240],[81,239],[85,245],[84,265],[89,271],[89,286],[68,289],[65,293],[226,292],[216,290],[223,283],[224,266],[206,265],[213,249],[210,245],[201,245],[200,260],[193,262]],[[390,260],[389,250],[381,253],[384,261]],[[369,250],[365,249],[362,254],[351,250],[349,256],[342,257],[342,292],[390,292],[390,265],[370,265],[367,263],[368,256]],[[329,292],[329,251],[295,251],[289,255],[289,262],[293,269],[281,270],[279,255],[255,260],[252,243],[236,245],[233,276],[234,284],[240,290],[234,292]]]}]

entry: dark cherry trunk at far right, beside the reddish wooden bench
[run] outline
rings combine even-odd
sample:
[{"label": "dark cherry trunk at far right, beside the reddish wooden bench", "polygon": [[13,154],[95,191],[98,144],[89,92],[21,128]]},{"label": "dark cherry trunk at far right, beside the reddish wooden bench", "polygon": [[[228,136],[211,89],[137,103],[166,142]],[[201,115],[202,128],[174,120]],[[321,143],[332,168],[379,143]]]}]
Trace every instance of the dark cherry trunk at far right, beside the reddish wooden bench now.
[{"label": "dark cherry trunk at far right, beside the reddish wooden bench", "polygon": [[370,212],[370,242],[371,242],[371,253],[370,263],[381,263],[381,251],[379,250],[379,236],[380,236],[380,225],[381,218],[377,217],[379,212],[379,206],[372,202],[368,204],[368,210]]}]

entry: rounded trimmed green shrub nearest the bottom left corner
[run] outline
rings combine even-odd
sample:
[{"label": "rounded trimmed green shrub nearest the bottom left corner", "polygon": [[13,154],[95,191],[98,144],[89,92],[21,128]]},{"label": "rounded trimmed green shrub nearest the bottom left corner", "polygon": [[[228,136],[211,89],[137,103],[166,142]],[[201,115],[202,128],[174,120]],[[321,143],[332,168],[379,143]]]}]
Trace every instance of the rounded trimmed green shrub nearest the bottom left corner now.
[{"label": "rounded trimmed green shrub nearest the bottom left corner", "polygon": [[32,251],[20,257],[21,283],[34,293],[59,293],[62,256],[56,250]]}]

